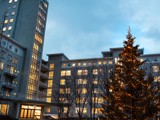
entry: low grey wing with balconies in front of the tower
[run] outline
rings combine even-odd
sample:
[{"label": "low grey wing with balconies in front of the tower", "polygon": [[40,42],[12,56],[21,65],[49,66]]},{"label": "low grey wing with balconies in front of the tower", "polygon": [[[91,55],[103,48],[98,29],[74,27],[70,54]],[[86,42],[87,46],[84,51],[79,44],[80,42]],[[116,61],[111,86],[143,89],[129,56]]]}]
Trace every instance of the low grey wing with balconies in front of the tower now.
[{"label": "low grey wing with balconies in front of the tower", "polygon": [[7,99],[17,98],[25,53],[25,47],[0,33],[0,112],[3,114],[15,114],[18,110]]}]

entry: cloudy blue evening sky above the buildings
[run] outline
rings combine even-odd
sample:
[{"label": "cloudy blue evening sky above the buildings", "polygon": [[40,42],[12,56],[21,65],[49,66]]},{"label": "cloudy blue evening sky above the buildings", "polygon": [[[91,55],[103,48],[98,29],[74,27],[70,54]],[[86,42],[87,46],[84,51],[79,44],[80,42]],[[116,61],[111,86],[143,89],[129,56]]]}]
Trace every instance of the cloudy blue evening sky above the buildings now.
[{"label": "cloudy blue evening sky above the buildings", "polygon": [[48,0],[43,58],[101,57],[122,47],[128,27],[145,54],[160,53],[159,0]]}]

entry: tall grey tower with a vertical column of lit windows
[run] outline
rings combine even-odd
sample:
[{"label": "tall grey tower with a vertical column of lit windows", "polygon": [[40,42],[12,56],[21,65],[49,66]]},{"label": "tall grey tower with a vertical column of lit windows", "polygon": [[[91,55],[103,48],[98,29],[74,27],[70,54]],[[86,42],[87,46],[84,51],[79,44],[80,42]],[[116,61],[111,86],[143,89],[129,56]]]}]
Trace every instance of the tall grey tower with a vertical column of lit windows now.
[{"label": "tall grey tower with a vertical column of lit windows", "polygon": [[19,91],[22,98],[38,97],[47,10],[47,0],[0,1],[0,31],[27,48]]}]

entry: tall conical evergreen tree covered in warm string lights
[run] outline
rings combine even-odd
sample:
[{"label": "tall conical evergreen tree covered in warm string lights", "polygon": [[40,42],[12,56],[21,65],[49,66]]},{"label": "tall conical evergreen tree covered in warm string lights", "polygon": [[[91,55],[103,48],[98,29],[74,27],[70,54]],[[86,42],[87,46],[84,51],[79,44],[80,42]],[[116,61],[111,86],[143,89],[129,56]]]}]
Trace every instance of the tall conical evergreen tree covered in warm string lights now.
[{"label": "tall conical evergreen tree covered in warm string lights", "polygon": [[128,31],[124,48],[115,65],[114,75],[108,81],[109,94],[105,96],[103,113],[108,120],[146,120],[156,117],[156,95],[151,89],[152,76],[145,78],[144,62],[138,57],[138,45]]}]

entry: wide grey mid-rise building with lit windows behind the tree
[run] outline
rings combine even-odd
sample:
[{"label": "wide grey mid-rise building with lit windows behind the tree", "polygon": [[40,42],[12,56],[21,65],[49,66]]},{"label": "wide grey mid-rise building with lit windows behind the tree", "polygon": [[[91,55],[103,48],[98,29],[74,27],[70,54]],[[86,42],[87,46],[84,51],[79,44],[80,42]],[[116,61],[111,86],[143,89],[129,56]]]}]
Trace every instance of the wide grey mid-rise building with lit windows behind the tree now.
[{"label": "wide grey mid-rise building with lit windows behind the tree", "polygon": [[[100,58],[76,60],[69,60],[63,53],[48,54],[48,82],[52,87],[47,98],[52,102],[69,103],[69,106],[56,106],[56,109],[50,107],[48,113],[57,112],[59,117],[77,118],[78,113],[81,114],[83,110],[83,117],[98,118],[101,115],[101,104],[104,102],[100,95],[103,92],[103,77],[109,77],[121,52],[122,48],[111,48],[110,51],[102,52]],[[143,49],[139,49],[139,52],[139,59],[146,61],[145,67],[150,70],[148,72],[153,73],[154,82],[159,83],[160,54],[145,55]],[[160,89],[160,84],[157,84],[157,88]]]}]

